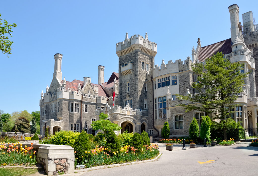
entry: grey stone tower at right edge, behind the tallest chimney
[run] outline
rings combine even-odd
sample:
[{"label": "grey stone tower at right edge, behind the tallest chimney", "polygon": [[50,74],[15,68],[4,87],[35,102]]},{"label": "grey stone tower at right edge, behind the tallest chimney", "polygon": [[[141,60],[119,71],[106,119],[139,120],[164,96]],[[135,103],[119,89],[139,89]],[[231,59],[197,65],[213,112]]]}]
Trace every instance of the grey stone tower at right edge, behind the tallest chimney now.
[{"label": "grey stone tower at right edge, behind the tallest chimney", "polygon": [[[243,17],[243,37],[246,46],[252,52],[255,61],[255,85],[258,89],[258,24],[253,24],[253,12],[242,14]],[[255,95],[256,96],[256,95]]]}]

